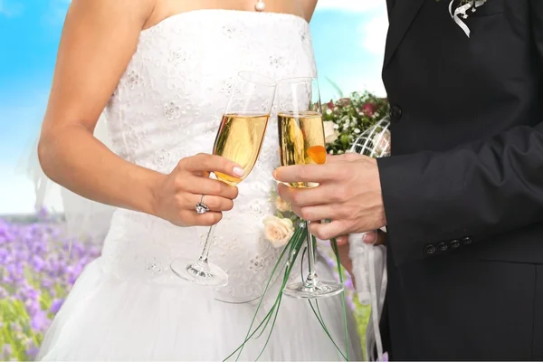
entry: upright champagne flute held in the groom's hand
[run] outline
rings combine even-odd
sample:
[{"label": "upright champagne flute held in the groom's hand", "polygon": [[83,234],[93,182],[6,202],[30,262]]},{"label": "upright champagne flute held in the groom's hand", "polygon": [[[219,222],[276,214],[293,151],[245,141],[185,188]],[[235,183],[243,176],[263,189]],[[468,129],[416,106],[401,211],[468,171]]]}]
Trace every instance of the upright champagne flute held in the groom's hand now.
[{"label": "upright champagne flute held in the groom's hand", "polygon": [[[279,149],[281,166],[324,164],[326,143],[322,123],[319,82],[316,78],[293,78],[278,84]],[[317,183],[295,182],[291,187],[316,187]],[[307,222],[301,221],[306,224]],[[338,281],[320,281],[315,271],[315,244],[309,230],[309,274],[305,281],[288,285],[283,293],[297,299],[331,297],[343,291]]]}]

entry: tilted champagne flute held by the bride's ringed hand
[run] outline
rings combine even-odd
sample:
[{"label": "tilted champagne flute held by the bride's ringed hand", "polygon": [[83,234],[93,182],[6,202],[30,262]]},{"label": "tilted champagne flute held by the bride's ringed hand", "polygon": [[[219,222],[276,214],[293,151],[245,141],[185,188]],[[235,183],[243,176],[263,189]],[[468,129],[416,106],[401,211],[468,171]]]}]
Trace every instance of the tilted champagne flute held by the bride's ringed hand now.
[{"label": "tilted champagne flute held by the bride's ringed hand", "polygon": [[[213,153],[237,163],[243,167],[244,173],[242,177],[233,177],[215,172],[215,176],[224,183],[237,185],[251,173],[262,148],[276,87],[275,81],[263,75],[250,71],[238,73],[214,140]],[[196,209],[205,208],[204,201],[205,197]],[[228,274],[207,261],[215,226],[209,228],[198,260],[178,258],[171,262],[170,268],[178,277],[213,287],[228,283]]]}]

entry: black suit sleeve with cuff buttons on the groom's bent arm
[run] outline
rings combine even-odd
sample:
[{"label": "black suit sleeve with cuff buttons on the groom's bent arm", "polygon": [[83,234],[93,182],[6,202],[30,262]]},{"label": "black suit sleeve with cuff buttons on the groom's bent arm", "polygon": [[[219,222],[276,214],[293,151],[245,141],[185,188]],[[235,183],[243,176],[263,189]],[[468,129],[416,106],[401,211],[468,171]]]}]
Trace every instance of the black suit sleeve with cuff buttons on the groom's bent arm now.
[{"label": "black suit sleeve with cuff buttons on the groom's bent arm", "polygon": [[[530,6],[543,64],[543,0]],[[446,152],[378,159],[397,265],[543,222],[543,119],[532,124]]]}]

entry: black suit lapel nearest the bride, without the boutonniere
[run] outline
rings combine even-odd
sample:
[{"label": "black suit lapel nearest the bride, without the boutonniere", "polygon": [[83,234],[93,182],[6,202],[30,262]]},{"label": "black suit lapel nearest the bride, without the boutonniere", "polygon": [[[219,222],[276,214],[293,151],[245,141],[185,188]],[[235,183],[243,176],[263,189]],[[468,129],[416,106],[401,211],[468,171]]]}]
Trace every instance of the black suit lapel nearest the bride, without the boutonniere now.
[{"label": "black suit lapel nearest the bride, without the boutonniere", "polygon": [[398,45],[402,43],[409,26],[413,24],[414,17],[421,10],[424,0],[395,0],[390,11],[388,33],[386,34],[385,63],[392,59]]}]

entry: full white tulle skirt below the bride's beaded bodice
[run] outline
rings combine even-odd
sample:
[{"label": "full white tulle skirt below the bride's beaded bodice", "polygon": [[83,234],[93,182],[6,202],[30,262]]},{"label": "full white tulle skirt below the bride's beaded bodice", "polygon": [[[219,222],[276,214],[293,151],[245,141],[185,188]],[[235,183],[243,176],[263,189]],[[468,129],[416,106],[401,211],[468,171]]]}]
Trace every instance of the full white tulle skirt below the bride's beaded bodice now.
[{"label": "full white tulle skirt below the bride's beaded bodice", "polygon": [[[321,277],[332,278],[322,263]],[[345,346],[341,297],[319,301],[329,332]],[[91,262],[52,322],[38,359],[223,360],[245,337],[256,304],[214,300],[205,288],[123,281]],[[264,308],[263,312],[268,308]],[[262,318],[261,315],[261,318]],[[261,319],[262,320],[262,319]],[[349,359],[360,360],[356,325],[348,314]],[[267,335],[250,341],[240,360],[255,360]],[[233,358],[235,359],[235,358]],[[260,360],[342,360],[307,301],[283,298]]]}]

